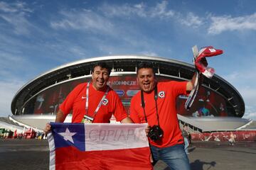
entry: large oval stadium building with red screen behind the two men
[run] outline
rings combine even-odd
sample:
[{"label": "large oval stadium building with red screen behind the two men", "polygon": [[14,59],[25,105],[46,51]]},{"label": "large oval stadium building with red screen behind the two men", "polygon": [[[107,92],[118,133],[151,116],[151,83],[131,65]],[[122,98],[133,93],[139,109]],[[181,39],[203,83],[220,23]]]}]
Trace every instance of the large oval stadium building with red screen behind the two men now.
[{"label": "large oval stadium building with red screen behind the two men", "polygon": [[[112,67],[109,85],[117,92],[129,113],[132,96],[139,91],[136,71],[140,62],[152,62],[159,81],[186,81],[193,77],[192,64],[161,57],[137,55],[95,57],[64,64],[45,72],[24,85],[11,103],[11,119],[35,128],[43,129],[47,122],[55,120],[58,106],[78,84],[91,79],[91,68],[97,62],[107,62]],[[242,119],[245,103],[239,92],[214,75],[205,78],[189,111],[184,108],[187,96],[178,96],[177,111],[181,123],[201,132],[218,129],[238,129],[251,120]],[[70,122],[68,115],[66,122]]]}]

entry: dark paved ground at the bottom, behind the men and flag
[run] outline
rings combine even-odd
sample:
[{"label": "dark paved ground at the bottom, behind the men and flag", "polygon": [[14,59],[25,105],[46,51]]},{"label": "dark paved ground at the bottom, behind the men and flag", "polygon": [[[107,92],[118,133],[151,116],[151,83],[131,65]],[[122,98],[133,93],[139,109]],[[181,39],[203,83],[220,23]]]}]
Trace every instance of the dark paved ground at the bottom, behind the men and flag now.
[{"label": "dark paved ground at the bottom, behind the men and flag", "polygon": [[[189,148],[191,169],[256,169],[256,142],[194,142]],[[48,169],[47,141],[0,139],[0,169]],[[163,162],[155,170],[168,170]]]}]

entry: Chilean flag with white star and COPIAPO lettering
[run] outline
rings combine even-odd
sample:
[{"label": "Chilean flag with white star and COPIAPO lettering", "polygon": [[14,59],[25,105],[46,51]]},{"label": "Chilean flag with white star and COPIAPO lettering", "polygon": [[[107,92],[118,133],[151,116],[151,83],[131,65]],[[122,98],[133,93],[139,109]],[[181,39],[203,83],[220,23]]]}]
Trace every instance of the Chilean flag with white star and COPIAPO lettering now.
[{"label": "Chilean flag with white star and COPIAPO lettering", "polygon": [[146,124],[50,125],[50,170],[153,169]]}]

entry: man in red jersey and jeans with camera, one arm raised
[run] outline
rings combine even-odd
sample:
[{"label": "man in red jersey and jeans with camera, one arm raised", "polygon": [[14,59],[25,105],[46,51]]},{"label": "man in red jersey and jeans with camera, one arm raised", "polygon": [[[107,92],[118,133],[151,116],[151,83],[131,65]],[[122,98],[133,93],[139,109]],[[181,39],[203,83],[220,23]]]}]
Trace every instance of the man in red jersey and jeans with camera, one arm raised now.
[{"label": "man in red jersey and jeans with camera, one arm raised", "polygon": [[137,68],[141,91],[133,96],[129,113],[134,123],[149,124],[154,163],[161,159],[171,169],[190,169],[178,125],[176,97],[191,91],[195,79],[194,75],[191,81],[157,82],[152,64],[141,63]]}]

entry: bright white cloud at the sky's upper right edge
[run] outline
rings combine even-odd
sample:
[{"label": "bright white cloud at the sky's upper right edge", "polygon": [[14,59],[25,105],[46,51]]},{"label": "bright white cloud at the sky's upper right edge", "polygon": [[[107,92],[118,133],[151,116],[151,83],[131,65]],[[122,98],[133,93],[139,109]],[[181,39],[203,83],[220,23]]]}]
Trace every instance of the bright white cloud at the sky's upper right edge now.
[{"label": "bright white cloud at the sky's upper right edge", "polygon": [[227,30],[256,30],[256,13],[250,16],[240,16],[233,18],[232,16],[212,16],[213,21],[209,34],[219,34]]}]

